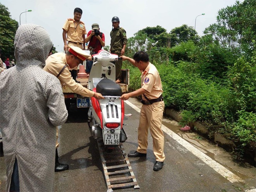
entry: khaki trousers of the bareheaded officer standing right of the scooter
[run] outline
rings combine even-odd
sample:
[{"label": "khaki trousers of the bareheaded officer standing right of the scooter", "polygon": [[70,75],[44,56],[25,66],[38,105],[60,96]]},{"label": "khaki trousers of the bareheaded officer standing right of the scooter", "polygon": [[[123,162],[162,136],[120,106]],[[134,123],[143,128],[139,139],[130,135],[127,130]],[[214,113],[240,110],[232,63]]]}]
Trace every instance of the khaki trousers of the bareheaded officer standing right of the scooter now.
[{"label": "khaki trousers of the bareheaded officer standing right of the scooter", "polygon": [[142,105],[140,110],[140,123],[138,126],[138,148],[140,153],[147,153],[148,129],[153,139],[153,152],[156,161],[163,162],[164,156],[164,133],[161,129],[164,112],[164,101],[155,102],[151,105]]}]

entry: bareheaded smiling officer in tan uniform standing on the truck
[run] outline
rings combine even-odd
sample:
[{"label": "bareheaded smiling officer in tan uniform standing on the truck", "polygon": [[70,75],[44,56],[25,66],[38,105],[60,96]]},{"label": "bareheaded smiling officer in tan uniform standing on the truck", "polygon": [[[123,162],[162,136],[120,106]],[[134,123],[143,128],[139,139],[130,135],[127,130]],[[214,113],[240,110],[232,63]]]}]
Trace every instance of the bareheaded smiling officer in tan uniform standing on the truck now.
[{"label": "bareheaded smiling officer in tan uniform standing on the truck", "polygon": [[[64,51],[67,52],[68,48],[71,46],[79,47],[83,50],[85,50],[85,34],[86,28],[83,21],[80,21],[82,17],[83,11],[80,8],[74,9],[74,18],[73,19],[67,19],[64,26],[62,27],[62,38],[64,41]],[[73,69],[71,71],[71,75],[73,79],[76,80],[76,69]]]}]

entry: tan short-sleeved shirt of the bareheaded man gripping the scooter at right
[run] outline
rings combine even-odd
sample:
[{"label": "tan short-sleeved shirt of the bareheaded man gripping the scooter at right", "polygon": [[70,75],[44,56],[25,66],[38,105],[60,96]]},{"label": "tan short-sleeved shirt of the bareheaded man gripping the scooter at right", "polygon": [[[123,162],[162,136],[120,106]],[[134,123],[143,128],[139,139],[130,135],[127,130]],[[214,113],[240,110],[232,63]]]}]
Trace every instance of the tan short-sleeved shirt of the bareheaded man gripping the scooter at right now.
[{"label": "tan short-sleeved shirt of the bareheaded man gripping the scooter at right", "polygon": [[[141,74],[141,87],[148,91],[145,93],[148,99],[157,99],[163,93],[161,78],[156,67],[151,63]],[[147,100],[144,95],[142,99]]]}]

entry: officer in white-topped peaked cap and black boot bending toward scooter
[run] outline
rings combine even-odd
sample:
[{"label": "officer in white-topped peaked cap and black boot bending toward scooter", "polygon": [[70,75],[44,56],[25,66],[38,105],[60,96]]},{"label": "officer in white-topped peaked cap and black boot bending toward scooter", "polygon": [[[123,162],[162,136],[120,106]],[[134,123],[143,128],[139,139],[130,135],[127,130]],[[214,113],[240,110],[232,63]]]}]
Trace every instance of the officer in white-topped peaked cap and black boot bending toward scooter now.
[{"label": "officer in white-topped peaked cap and black boot bending toward scooter", "polygon": [[[61,85],[65,84],[68,86],[74,93],[77,93],[83,97],[95,97],[96,99],[104,99],[104,97],[100,93],[93,92],[81,84],[76,83],[74,79],[71,77],[70,70],[74,67],[77,67],[81,62],[85,61],[90,54],[87,54],[79,47],[70,47],[67,53],[55,53],[49,55],[47,60],[45,61],[45,67],[43,70],[48,73],[56,76],[60,81]],[[55,156],[55,172],[64,171],[68,169],[67,164],[59,163],[58,159],[58,151],[57,147],[59,147],[58,142],[58,128],[57,131],[57,139],[56,139],[56,156]]]}]

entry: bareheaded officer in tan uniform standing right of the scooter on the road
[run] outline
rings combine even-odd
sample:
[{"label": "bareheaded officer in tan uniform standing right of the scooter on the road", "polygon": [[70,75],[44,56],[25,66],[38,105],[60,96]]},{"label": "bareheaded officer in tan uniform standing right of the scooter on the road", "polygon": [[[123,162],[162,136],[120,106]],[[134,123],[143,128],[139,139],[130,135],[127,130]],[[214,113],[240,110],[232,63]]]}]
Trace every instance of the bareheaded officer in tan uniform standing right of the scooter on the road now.
[{"label": "bareheaded officer in tan uniform standing right of the scooter on the road", "polygon": [[141,88],[126,93],[120,99],[127,100],[130,97],[142,95],[142,108],[140,111],[140,123],[138,126],[138,148],[135,152],[130,152],[128,157],[145,157],[147,155],[148,129],[153,139],[153,151],[156,157],[154,171],[163,168],[164,163],[164,134],[161,130],[164,101],[163,89],[159,73],[156,67],[149,62],[149,55],[144,51],[137,52],[133,59],[121,56],[123,61],[128,60],[141,71]]}]

